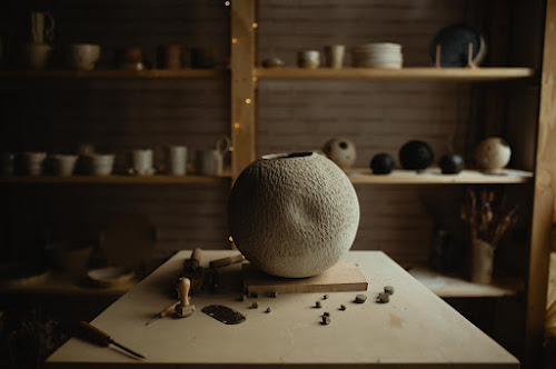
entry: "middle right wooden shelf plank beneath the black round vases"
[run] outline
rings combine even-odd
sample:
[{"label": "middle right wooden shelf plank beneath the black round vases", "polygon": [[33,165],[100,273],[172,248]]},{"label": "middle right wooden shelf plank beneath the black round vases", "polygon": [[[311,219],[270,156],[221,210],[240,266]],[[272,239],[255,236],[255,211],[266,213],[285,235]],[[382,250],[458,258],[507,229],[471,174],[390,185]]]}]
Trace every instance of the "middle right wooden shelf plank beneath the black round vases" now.
[{"label": "middle right wooden shelf plank beneath the black round vases", "polygon": [[430,168],[424,171],[396,169],[389,174],[373,174],[370,169],[346,170],[354,184],[489,184],[489,183],[526,183],[533,173],[516,169],[504,169],[496,173],[485,173],[466,169],[458,174],[443,174],[440,169]]}]

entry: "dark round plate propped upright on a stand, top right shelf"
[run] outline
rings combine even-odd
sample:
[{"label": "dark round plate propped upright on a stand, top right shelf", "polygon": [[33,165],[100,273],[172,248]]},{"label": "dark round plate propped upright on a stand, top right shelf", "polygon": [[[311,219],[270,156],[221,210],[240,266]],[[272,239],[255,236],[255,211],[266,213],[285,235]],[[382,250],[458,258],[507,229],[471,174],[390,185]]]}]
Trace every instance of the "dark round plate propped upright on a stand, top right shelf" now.
[{"label": "dark round plate propped upright on a stand, top right shelf", "polygon": [[440,46],[440,67],[466,67],[469,42],[473,43],[473,61],[479,64],[486,53],[480,33],[465,24],[451,24],[436,33],[430,42],[430,57],[436,60],[436,46]]}]

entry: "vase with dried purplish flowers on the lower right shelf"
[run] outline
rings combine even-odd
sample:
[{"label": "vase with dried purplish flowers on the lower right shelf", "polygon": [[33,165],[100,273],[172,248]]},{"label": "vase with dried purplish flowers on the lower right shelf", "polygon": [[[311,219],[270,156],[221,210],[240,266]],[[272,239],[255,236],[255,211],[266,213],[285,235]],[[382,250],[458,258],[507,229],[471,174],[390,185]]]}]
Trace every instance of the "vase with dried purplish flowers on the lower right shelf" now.
[{"label": "vase with dried purplish flowers on the lower right shelf", "polygon": [[497,196],[486,189],[467,190],[460,216],[471,240],[471,281],[492,282],[494,252],[502,237],[517,223],[517,205],[507,205],[506,195]]}]

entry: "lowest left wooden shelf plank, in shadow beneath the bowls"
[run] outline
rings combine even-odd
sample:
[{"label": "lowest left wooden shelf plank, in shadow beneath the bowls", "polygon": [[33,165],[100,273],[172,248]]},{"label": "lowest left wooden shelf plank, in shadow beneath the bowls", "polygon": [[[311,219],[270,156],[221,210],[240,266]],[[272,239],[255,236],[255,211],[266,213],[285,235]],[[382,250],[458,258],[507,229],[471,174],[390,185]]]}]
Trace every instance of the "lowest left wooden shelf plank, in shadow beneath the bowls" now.
[{"label": "lowest left wooden shelf plank, in shadow beneath the bowls", "polygon": [[47,272],[40,278],[0,286],[2,293],[66,295],[66,296],[122,296],[137,281],[128,281],[111,287],[96,287],[81,283],[80,280],[58,272]]}]

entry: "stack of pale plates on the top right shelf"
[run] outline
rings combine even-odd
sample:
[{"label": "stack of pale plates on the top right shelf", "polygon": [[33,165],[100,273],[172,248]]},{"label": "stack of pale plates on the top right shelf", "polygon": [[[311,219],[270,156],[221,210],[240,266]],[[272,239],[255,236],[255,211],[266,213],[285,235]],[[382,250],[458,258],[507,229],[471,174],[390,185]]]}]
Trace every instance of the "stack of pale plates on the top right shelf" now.
[{"label": "stack of pale plates on the top right shelf", "polygon": [[400,69],[403,63],[404,57],[399,43],[373,42],[351,50],[351,64],[356,68]]}]

